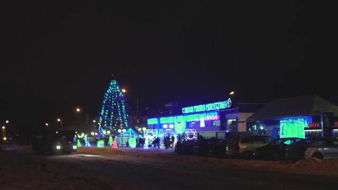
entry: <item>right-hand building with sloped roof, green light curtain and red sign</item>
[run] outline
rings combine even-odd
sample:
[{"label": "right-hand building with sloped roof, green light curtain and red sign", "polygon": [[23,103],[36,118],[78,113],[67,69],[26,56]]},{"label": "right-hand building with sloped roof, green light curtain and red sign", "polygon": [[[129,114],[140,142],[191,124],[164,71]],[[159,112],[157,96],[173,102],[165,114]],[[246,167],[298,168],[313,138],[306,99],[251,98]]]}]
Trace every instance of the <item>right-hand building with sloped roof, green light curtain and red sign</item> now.
[{"label": "right-hand building with sloped roof, green light curtain and red sign", "polygon": [[326,112],[331,114],[326,136],[338,137],[338,107],[316,95],[272,101],[246,119],[247,130],[275,138],[318,137],[323,135]]}]

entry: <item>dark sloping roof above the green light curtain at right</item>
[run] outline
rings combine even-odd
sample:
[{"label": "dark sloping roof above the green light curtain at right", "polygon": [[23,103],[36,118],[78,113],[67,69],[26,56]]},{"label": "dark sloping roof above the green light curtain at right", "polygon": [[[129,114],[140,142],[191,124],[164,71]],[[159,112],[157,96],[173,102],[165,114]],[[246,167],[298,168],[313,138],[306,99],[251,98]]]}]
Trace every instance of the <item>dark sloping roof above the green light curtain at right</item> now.
[{"label": "dark sloping roof above the green light curtain at right", "polygon": [[317,95],[298,96],[274,100],[248,117],[247,121],[320,115],[322,111],[333,111],[338,116],[338,106],[331,102]]}]

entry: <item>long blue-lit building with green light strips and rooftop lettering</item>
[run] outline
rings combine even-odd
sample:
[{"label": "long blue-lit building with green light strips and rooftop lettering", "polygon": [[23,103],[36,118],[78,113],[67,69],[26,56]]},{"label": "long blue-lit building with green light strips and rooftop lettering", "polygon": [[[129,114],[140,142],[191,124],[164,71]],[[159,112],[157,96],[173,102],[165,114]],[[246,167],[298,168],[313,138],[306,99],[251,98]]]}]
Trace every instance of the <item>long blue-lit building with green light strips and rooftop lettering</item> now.
[{"label": "long blue-lit building with green light strips and rooftop lettering", "polygon": [[[149,130],[174,130],[178,135],[197,131],[206,138],[224,138],[227,132],[246,131],[245,120],[265,104],[237,104],[231,99],[182,108],[182,114],[147,120]],[[161,136],[161,135],[160,135]],[[189,137],[189,135],[188,135]]]}]

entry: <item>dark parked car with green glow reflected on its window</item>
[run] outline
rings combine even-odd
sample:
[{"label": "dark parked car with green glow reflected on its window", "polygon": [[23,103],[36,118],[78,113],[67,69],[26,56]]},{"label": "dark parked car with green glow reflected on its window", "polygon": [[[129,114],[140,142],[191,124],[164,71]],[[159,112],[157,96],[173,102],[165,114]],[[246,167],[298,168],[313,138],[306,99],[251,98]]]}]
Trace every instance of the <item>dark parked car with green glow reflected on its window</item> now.
[{"label": "dark parked car with green glow reflected on its window", "polygon": [[282,138],[275,139],[271,143],[256,149],[254,156],[257,158],[279,159],[286,158],[286,149],[289,145],[302,140],[301,138]]}]

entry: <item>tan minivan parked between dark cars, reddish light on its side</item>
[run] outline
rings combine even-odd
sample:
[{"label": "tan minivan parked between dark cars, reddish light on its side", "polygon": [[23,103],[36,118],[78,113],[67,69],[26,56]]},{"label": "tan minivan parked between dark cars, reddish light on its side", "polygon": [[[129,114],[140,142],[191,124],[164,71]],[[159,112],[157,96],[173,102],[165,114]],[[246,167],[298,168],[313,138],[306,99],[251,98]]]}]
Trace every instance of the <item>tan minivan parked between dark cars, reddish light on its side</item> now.
[{"label": "tan minivan parked between dark cars, reddish light on its side", "polygon": [[253,157],[256,149],[271,143],[274,140],[269,135],[238,135],[227,142],[226,155],[242,155]]}]

